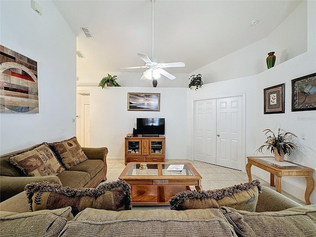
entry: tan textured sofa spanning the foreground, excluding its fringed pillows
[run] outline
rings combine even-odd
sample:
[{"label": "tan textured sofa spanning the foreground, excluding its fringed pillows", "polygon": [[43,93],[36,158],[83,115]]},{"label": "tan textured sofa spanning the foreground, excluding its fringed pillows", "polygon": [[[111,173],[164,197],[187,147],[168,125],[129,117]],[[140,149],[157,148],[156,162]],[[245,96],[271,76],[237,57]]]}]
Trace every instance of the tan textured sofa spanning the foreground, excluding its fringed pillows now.
[{"label": "tan textured sofa spanning the foreground, excluding its fringed pillows", "polygon": [[29,212],[25,193],[0,203],[0,236],[52,237],[311,237],[316,205],[299,203],[262,187],[256,212],[233,208],[124,210],[71,207]]}]

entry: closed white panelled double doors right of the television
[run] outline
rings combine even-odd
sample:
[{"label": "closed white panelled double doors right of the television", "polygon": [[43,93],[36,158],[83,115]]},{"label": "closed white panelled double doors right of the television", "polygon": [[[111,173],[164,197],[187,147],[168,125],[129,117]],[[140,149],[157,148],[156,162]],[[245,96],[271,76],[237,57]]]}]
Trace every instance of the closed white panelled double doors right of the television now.
[{"label": "closed white panelled double doors right of the television", "polygon": [[194,159],[244,170],[243,95],[194,102]]}]

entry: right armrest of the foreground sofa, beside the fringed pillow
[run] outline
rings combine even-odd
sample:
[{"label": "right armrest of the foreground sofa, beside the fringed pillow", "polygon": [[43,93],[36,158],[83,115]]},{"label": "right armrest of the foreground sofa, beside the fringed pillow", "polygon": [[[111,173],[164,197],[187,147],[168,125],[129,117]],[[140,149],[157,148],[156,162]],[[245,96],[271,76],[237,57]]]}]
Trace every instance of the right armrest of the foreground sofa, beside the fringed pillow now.
[{"label": "right armrest of the foreground sofa, beside the fringed pillow", "polygon": [[301,206],[301,204],[268,187],[262,186],[262,192],[259,194],[256,212],[281,211],[296,206]]}]

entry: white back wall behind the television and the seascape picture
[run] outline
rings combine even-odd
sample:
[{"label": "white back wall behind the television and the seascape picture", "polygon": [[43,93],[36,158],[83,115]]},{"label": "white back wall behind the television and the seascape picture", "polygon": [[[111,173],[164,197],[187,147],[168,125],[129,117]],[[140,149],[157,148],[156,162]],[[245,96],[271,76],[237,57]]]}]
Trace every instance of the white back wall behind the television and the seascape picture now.
[{"label": "white back wall behind the television and the seascape picture", "polygon": [[[91,147],[108,147],[108,158],[124,157],[124,137],[136,118],[165,118],[166,158],[187,158],[186,88],[78,87],[90,91]],[[127,111],[127,92],[160,93],[160,111]]]}]

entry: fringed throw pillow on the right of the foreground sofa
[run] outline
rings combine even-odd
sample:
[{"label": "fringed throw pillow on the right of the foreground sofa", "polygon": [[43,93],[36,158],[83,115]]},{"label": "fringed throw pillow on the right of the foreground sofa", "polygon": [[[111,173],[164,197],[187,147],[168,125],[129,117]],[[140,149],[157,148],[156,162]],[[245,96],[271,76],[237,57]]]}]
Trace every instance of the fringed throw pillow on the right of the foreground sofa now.
[{"label": "fringed throw pillow on the right of the foreground sofa", "polygon": [[170,198],[170,209],[205,209],[230,206],[239,210],[255,211],[261,192],[259,180],[224,189],[184,191]]}]

